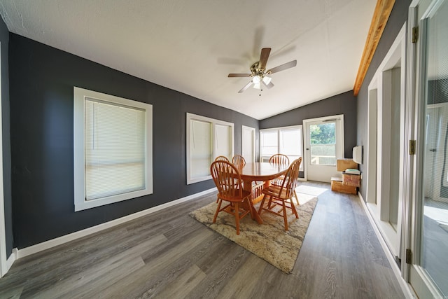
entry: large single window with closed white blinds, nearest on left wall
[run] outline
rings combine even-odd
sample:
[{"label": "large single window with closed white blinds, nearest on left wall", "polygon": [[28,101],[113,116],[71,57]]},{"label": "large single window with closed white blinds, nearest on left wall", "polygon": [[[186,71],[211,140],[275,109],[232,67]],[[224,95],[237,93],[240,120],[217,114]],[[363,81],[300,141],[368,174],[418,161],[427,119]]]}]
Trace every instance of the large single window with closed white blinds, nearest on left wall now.
[{"label": "large single window with closed white blinds, nearest on left wall", "polygon": [[153,193],[152,109],[73,88],[75,211]]}]

